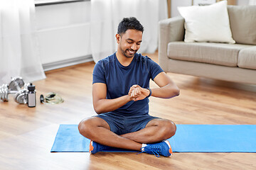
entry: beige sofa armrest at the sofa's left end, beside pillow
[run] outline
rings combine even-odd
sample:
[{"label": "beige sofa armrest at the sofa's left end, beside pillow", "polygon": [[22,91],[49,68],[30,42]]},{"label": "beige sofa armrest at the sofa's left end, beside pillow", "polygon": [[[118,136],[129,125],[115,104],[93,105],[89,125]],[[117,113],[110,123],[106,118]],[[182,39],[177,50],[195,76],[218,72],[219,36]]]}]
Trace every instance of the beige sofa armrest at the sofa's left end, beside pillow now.
[{"label": "beige sofa armrest at the sofa's left end, beside pillow", "polygon": [[183,41],[184,30],[184,18],[181,16],[159,21],[159,65],[164,72],[168,71],[168,43]]}]

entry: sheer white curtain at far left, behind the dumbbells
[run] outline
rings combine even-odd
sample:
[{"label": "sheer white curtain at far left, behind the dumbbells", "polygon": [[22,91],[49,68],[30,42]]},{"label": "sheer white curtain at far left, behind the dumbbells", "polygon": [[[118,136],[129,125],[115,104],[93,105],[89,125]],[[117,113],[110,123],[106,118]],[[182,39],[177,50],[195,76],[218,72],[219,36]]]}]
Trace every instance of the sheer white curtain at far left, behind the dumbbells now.
[{"label": "sheer white curtain at far left, behind the dumbbells", "polygon": [[0,85],[11,77],[45,79],[36,38],[33,0],[0,0]]}]

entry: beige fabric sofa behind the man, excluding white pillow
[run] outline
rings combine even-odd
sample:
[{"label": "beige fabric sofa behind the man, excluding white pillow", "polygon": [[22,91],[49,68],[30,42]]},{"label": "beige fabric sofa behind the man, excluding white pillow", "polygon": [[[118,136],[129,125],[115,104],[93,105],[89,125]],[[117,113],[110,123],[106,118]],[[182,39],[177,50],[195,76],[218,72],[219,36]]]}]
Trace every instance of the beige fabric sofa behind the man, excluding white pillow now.
[{"label": "beige fabric sofa behind the man, excluding white pillow", "polygon": [[165,72],[256,84],[256,6],[228,6],[235,44],[184,42],[181,16],[159,22],[159,64]]}]

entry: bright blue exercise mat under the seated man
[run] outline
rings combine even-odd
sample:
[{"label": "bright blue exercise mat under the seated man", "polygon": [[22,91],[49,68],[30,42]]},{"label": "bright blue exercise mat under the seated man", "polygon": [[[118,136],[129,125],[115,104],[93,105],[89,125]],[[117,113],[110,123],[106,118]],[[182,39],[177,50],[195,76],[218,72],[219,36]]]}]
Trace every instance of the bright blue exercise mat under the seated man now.
[{"label": "bright blue exercise mat under the seated man", "polygon": [[[256,125],[176,125],[173,152],[256,152]],[[78,125],[60,125],[50,152],[89,152]],[[105,152],[136,152],[111,149]]]}]

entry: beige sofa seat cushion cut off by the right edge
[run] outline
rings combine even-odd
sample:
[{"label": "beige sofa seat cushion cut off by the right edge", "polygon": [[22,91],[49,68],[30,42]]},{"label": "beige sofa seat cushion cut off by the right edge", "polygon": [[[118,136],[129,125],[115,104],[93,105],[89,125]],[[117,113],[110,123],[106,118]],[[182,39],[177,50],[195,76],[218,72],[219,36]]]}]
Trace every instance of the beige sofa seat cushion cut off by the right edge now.
[{"label": "beige sofa seat cushion cut off by the right edge", "polygon": [[256,69],[256,46],[240,50],[238,55],[238,67]]}]

